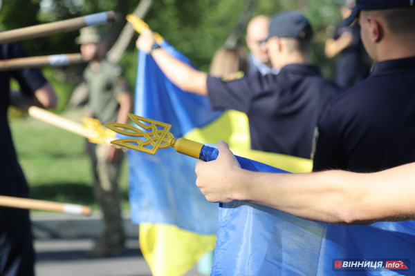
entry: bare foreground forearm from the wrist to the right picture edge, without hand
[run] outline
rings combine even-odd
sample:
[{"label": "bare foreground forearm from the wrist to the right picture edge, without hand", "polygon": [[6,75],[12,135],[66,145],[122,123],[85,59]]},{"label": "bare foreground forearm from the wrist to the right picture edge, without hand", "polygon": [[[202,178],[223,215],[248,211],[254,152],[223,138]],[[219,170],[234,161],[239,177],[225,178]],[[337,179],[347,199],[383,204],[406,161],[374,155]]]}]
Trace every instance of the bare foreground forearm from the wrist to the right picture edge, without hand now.
[{"label": "bare foreground forearm from the wrist to the right picture edge, without hand", "polygon": [[362,174],[331,170],[246,176],[246,199],[286,213],[331,223],[367,224],[415,216],[415,165]]}]

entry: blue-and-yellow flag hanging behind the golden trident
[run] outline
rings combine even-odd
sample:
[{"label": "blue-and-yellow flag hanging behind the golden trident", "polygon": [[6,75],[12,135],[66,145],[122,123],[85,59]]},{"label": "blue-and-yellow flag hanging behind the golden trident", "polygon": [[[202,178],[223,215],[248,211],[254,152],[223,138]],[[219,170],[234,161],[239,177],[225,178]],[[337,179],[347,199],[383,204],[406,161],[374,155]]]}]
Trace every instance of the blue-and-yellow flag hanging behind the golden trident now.
[{"label": "blue-and-yellow flag hanging behind the golden trident", "polygon": [[[190,61],[160,45],[181,61]],[[151,56],[140,52],[135,114],[172,125],[174,137],[203,143],[228,141],[232,150],[293,172],[311,171],[311,161],[249,150],[248,120],[236,111],[212,110],[206,97],[183,92],[161,72]],[[218,204],[206,201],[196,187],[196,160],[172,148],[156,155],[129,150],[131,216],[140,225],[140,248],[153,275],[184,275],[213,250]]]}]

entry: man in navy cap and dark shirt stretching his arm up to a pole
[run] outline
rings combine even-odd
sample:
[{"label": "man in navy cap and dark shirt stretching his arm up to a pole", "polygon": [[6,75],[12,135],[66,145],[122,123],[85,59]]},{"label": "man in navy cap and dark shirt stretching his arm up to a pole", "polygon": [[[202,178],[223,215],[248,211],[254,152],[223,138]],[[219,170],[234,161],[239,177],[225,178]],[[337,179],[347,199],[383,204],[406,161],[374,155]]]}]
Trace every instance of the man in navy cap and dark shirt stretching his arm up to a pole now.
[{"label": "man in navy cap and dark shirt stretching his arm up to a pole", "polygon": [[299,12],[277,14],[266,43],[271,63],[281,68],[279,74],[256,72],[232,81],[194,70],[169,56],[155,43],[150,30],[142,32],[137,46],[152,55],[182,90],[208,95],[214,108],[245,112],[252,149],[309,158],[320,113],[341,91],[309,64],[312,36],[308,20]]}]

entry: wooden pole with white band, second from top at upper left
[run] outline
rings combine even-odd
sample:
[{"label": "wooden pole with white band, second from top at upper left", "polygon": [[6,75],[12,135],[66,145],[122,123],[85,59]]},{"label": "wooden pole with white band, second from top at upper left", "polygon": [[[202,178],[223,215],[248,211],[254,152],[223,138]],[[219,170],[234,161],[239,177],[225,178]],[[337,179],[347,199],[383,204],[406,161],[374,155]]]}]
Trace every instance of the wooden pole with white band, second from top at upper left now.
[{"label": "wooden pole with white band, second from top at upper left", "polygon": [[39,68],[44,66],[66,66],[84,62],[81,54],[49,55],[40,57],[23,57],[20,59],[0,60],[0,71]]}]

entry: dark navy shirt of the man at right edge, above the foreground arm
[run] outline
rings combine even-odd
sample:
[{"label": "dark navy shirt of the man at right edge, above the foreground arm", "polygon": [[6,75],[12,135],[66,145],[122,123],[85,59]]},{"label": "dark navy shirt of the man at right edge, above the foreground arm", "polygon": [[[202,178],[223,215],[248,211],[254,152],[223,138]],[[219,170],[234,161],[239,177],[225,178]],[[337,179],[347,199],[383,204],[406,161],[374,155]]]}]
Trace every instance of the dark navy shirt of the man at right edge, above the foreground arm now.
[{"label": "dark navy shirt of the man at right edge, above the foreground arm", "polygon": [[375,172],[415,161],[415,57],[376,63],[327,106],[313,170]]}]

